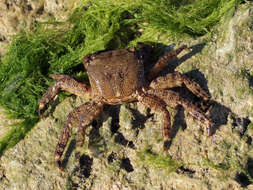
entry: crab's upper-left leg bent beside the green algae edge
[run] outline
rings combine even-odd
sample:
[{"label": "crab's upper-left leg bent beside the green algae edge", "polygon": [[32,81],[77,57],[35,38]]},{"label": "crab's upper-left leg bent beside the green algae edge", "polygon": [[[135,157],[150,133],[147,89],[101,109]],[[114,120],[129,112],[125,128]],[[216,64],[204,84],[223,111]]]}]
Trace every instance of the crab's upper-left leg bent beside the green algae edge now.
[{"label": "crab's upper-left leg bent beside the green algae edge", "polygon": [[68,91],[77,96],[85,98],[91,97],[90,87],[84,83],[77,82],[75,79],[67,75],[50,75],[50,77],[56,79],[57,81],[48,88],[47,92],[42,96],[39,102],[40,117],[43,117],[43,109],[52,99],[54,99],[60,89]]}]

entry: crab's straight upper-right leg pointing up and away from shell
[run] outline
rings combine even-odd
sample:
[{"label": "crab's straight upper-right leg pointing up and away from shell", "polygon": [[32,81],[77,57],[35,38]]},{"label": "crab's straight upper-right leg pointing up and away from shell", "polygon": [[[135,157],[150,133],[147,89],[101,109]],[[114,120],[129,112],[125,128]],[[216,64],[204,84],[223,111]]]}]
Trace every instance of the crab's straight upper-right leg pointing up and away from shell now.
[{"label": "crab's straight upper-right leg pointing up and away from shell", "polygon": [[169,59],[172,59],[173,57],[176,57],[181,51],[183,51],[186,48],[187,48],[186,45],[182,45],[178,49],[176,49],[176,50],[168,53],[167,55],[161,57],[157,61],[157,63],[154,65],[154,67],[151,69],[151,71],[148,73],[147,79],[149,81],[151,81],[152,79],[154,79],[158,75],[158,73],[160,71],[162,71],[167,66],[167,63],[168,63]]}]

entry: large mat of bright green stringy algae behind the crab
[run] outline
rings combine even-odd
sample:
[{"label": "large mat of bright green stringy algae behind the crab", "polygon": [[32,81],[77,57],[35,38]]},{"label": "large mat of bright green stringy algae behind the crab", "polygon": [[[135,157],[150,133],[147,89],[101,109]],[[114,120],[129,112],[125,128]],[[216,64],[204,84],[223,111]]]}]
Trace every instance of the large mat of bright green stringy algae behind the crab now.
[{"label": "large mat of bright green stringy algae behind the crab", "polygon": [[49,74],[87,80],[80,69],[88,53],[125,48],[137,41],[155,42],[161,35],[165,39],[204,35],[240,2],[84,1],[66,22],[38,23],[29,32],[21,32],[13,38],[0,64],[0,105],[21,123],[0,139],[0,154],[38,122],[38,101],[52,83]]}]

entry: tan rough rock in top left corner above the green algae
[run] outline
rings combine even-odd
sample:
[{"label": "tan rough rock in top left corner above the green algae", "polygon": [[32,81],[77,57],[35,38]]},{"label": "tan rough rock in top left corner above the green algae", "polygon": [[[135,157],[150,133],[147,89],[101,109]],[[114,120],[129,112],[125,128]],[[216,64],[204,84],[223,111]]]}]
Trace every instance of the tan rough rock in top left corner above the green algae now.
[{"label": "tan rough rock in top left corner above the green algae", "polygon": [[80,0],[29,0],[0,2],[0,55],[13,35],[38,21],[64,21]]}]

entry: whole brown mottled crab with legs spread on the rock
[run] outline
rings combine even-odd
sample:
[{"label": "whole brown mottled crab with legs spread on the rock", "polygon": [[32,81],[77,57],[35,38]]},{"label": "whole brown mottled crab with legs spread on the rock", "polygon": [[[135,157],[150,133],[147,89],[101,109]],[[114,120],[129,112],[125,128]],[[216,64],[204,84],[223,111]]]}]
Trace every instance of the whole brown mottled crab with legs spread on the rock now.
[{"label": "whole brown mottled crab with legs spread on the rock", "polygon": [[203,101],[210,99],[209,93],[198,83],[179,72],[157,77],[160,71],[167,66],[168,60],[176,57],[186,48],[186,45],[182,45],[162,56],[149,71],[144,69],[150,54],[148,46],[140,45],[139,48],[134,49],[107,50],[89,54],[84,57],[83,64],[88,73],[90,85],[67,75],[52,74],[51,77],[56,79],[56,82],[48,88],[39,102],[38,112],[41,118],[43,118],[46,106],[54,99],[59,90],[91,99],[75,108],[67,116],[54,154],[57,166],[63,170],[62,155],[74,123],[78,123],[80,138],[77,140],[77,146],[81,147],[84,144],[87,126],[99,115],[106,104],[116,105],[138,101],[155,113],[161,113],[164,151],[171,140],[171,120],[166,106],[175,107],[178,104],[183,106],[193,118],[206,127],[207,135],[210,136],[212,127],[210,118],[201,108],[170,88],[185,85]]}]

